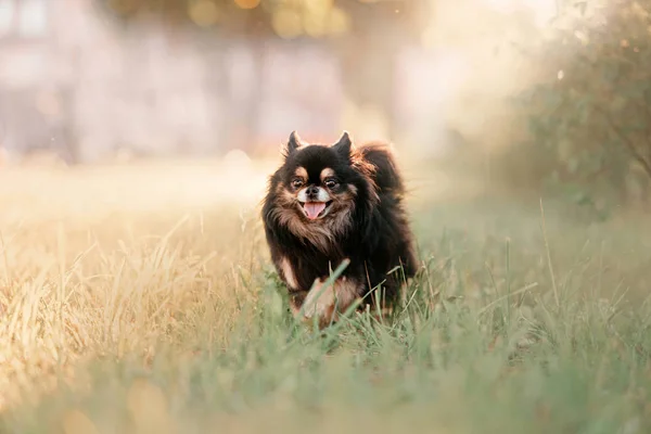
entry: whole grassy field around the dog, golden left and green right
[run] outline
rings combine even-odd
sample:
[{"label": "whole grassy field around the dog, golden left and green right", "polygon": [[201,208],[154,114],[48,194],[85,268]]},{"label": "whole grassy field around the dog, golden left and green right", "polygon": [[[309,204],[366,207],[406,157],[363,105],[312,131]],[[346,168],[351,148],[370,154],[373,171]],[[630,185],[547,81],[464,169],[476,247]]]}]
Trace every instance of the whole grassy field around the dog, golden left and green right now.
[{"label": "whole grassy field around the dog, golden left and green right", "polygon": [[409,168],[394,318],[297,327],[270,163],[0,171],[0,433],[651,432],[651,224]]}]

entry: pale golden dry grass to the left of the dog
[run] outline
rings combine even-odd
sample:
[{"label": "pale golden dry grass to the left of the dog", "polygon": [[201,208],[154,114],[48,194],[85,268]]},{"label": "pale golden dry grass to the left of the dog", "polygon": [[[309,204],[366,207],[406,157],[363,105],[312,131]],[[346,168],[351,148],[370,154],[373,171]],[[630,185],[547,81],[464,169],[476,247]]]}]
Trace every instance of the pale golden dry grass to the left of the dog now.
[{"label": "pale golden dry grass to the left of the dog", "polygon": [[253,296],[241,280],[260,263],[248,229],[264,174],[196,163],[1,174],[2,404],[78,360],[151,360],[161,342],[190,350],[197,327],[226,339],[238,298]]}]

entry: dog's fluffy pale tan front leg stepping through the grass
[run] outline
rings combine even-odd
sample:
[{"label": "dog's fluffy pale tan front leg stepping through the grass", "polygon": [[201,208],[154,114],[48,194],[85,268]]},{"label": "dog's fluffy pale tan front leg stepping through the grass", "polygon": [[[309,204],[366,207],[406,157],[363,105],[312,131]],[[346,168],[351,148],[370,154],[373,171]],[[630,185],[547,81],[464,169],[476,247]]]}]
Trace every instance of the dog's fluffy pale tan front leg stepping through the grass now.
[{"label": "dog's fluffy pale tan front leg stepping through the grass", "polygon": [[345,312],[359,295],[359,285],[349,278],[339,278],[328,286],[326,281],[327,278],[317,279],[303,302],[302,319],[311,322],[316,317],[319,328],[336,321],[339,314]]}]

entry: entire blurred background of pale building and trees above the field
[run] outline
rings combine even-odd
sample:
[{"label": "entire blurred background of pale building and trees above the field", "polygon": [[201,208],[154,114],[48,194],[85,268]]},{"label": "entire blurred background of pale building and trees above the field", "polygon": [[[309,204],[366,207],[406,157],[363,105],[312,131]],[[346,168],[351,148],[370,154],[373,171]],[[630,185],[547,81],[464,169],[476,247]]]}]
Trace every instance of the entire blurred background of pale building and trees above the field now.
[{"label": "entire blurred background of pale building and trees above the field", "polygon": [[0,0],[4,166],[391,140],[602,215],[651,176],[649,1]]}]

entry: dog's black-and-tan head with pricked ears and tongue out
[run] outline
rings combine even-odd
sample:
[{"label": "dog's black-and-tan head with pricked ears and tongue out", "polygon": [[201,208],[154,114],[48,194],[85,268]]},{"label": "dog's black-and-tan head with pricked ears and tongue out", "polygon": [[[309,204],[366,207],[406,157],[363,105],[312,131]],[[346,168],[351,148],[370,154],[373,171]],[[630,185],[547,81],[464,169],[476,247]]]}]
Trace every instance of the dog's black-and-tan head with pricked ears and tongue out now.
[{"label": "dog's black-and-tan head with pricked ears and tongue out", "polygon": [[294,131],[272,179],[275,214],[298,235],[332,239],[368,200],[369,182],[347,132],[334,144],[308,144]]}]

